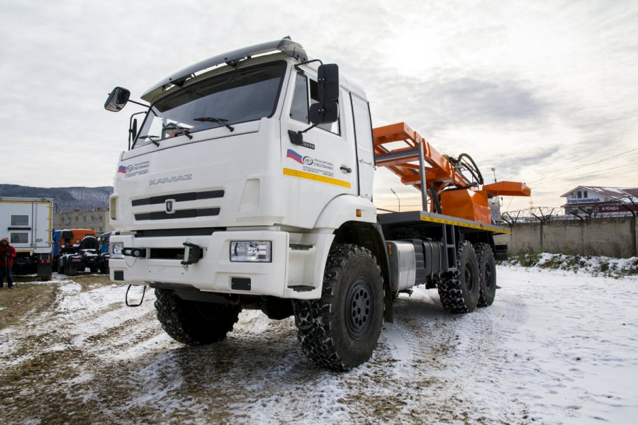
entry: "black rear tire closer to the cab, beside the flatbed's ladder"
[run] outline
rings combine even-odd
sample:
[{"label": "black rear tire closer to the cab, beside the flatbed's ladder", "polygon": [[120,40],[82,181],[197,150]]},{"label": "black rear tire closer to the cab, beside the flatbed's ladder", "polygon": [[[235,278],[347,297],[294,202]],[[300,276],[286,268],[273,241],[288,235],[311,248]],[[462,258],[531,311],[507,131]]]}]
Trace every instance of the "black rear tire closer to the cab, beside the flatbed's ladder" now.
[{"label": "black rear tire closer to the cab, beside the flatbed's ladder", "polygon": [[461,242],[457,249],[457,270],[443,273],[437,284],[443,308],[450,313],[467,313],[476,309],[481,292],[479,276],[472,244]]}]

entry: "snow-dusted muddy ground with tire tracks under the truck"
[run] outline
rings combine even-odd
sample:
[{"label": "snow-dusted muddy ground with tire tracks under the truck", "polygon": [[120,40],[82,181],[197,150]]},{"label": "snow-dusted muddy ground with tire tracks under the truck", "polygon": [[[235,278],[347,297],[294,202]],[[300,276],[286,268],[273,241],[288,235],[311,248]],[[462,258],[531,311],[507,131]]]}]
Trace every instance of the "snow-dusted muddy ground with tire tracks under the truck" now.
[{"label": "snow-dusted muddy ground with tire tracks under the truck", "polygon": [[188,347],[152,293],[130,308],[110,283],[21,284],[0,293],[0,423],[635,423],[638,279],[498,267],[498,284],[471,314],[401,295],[349,373],[307,361],[292,319],[245,311],[225,341]]}]

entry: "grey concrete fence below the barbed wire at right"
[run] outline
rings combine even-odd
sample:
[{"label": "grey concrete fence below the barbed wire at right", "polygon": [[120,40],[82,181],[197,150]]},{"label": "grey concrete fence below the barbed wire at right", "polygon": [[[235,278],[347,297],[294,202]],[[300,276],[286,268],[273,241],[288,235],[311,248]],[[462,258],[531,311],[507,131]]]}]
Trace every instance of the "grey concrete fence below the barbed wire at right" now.
[{"label": "grey concrete fence below the barbed wire at right", "polygon": [[638,256],[638,217],[587,217],[573,220],[513,222],[511,234],[496,244],[508,244],[510,255],[549,252],[629,258]]}]

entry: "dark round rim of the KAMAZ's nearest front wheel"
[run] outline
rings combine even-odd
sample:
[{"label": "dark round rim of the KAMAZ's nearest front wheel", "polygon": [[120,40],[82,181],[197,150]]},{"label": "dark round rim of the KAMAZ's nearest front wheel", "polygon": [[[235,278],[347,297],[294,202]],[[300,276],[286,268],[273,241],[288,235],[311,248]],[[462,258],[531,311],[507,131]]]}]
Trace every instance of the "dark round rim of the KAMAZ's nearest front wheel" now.
[{"label": "dark round rim of the KAMAZ's nearest front wheel", "polygon": [[346,327],[355,341],[364,339],[371,328],[373,309],[370,284],[359,276],[350,285],[345,305]]}]

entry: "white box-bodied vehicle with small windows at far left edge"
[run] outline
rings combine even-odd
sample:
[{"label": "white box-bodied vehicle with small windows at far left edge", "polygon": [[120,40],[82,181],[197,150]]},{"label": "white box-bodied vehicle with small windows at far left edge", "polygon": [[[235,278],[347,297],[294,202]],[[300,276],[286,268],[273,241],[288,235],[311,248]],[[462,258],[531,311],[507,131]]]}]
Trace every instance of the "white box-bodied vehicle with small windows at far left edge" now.
[{"label": "white box-bodied vehicle with small windows at far left edge", "polygon": [[14,274],[52,275],[50,198],[8,198],[0,196],[0,237],[9,238],[16,249]]}]

